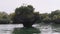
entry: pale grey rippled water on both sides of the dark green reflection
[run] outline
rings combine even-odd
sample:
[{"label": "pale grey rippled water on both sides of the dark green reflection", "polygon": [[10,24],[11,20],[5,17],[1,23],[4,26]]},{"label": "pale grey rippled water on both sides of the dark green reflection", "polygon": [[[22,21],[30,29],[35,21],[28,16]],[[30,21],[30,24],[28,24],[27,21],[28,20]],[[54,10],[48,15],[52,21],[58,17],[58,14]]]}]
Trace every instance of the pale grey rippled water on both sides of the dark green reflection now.
[{"label": "pale grey rippled water on both sides of the dark green reflection", "polygon": [[[14,28],[21,28],[23,27],[22,24],[5,24],[0,25],[0,34],[12,34]],[[40,34],[60,34],[59,32],[53,31],[56,29],[52,29],[51,25],[38,25],[35,24],[33,27],[39,28],[41,33]]]}]

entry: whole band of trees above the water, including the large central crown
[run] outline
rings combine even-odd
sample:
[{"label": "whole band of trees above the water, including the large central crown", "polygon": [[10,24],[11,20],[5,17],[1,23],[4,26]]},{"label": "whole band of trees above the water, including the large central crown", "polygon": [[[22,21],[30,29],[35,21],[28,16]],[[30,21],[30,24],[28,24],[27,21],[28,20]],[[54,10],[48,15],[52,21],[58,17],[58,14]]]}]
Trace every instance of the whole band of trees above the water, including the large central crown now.
[{"label": "whole band of trees above the water, including the large central crown", "polygon": [[[35,8],[33,8],[32,5],[28,5],[28,6],[21,6],[19,8],[16,8],[15,12],[11,14],[7,14],[6,12],[0,12],[0,24],[19,24],[21,22],[26,22],[28,20],[30,20],[29,22],[33,21],[32,22],[33,24],[41,23],[41,22],[44,22],[46,24],[50,24],[50,23],[60,24],[60,10],[55,10],[52,11],[51,13],[41,14],[39,12],[35,12],[34,9]],[[20,17],[16,17],[16,16],[20,16]],[[17,21],[21,21],[21,22],[17,22]]]}]

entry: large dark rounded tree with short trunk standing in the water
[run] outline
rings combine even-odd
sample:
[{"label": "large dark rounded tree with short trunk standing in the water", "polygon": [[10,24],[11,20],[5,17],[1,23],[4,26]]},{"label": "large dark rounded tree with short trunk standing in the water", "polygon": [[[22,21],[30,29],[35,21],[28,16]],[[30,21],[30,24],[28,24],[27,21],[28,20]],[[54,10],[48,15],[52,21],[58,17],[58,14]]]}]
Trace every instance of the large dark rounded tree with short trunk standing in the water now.
[{"label": "large dark rounded tree with short trunk standing in the water", "polygon": [[32,5],[16,8],[15,15],[12,18],[13,24],[22,23],[24,27],[32,27],[40,19],[39,12],[34,12]]}]

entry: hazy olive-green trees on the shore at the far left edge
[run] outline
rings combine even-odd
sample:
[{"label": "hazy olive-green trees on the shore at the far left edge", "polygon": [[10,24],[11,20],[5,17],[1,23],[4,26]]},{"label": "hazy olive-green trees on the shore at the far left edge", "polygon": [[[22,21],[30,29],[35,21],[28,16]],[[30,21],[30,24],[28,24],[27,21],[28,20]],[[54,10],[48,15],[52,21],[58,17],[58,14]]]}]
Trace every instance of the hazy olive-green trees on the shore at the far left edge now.
[{"label": "hazy olive-green trees on the shore at the far left edge", "polygon": [[8,24],[8,23],[10,23],[8,14],[5,12],[0,12],[0,24]]}]

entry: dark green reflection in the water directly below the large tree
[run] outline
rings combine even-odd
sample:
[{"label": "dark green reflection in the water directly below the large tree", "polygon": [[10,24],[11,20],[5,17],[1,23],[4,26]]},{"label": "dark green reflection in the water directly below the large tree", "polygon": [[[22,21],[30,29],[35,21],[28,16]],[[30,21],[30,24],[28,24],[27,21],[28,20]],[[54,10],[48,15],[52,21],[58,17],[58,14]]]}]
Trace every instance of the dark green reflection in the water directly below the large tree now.
[{"label": "dark green reflection in the water directly below the large tree", "polygon": [[40,30],[36,28],[15,28],[13,34],[39,34]]}]

